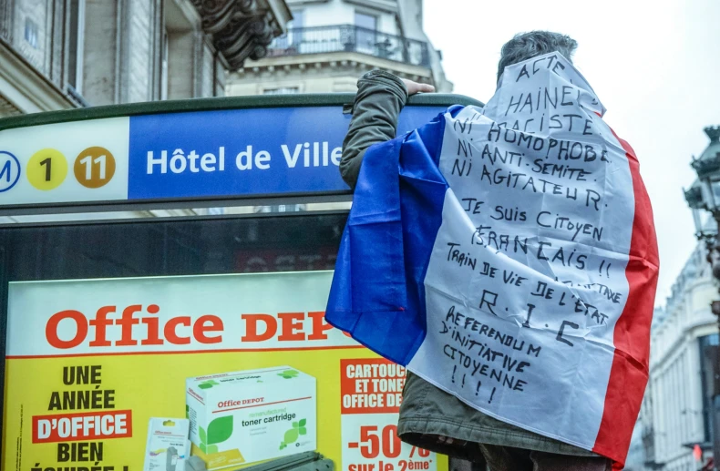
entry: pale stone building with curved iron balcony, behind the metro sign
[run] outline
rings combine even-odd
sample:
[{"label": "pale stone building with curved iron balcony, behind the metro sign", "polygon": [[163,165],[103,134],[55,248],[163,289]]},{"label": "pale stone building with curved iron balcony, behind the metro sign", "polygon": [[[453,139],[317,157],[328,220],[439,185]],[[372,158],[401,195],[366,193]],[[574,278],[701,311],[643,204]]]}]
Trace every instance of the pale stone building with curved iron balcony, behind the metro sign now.
[{"label": "pale stone building with curved iron balcony, behind the metro sign", "polygon": [[261,60],[231,74],[229,95],[355,92],[372,68],[449,93],[422,29],[422,0],[288,0],[293,22]]}]

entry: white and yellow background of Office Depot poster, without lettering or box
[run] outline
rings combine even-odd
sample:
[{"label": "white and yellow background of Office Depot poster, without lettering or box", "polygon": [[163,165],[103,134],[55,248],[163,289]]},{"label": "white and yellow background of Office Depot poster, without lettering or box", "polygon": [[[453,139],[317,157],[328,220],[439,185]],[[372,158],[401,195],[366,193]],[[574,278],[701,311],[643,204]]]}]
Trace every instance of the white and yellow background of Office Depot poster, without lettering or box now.
[{"label": "white and yellow background of Office Depot poster, without lettering or box", "polygon": [[[128,471],[141,471],[150,417],[186,417],[187,378],[287,365],[315,378],[316,451],[332,459],[336,470],[345,470],[349,464],[342,463],[340,362],[378,356],[327,325],[321,327],[329,330],[315,329],[321,318],[311,318],[310,312],[322,314],[331,280],[332,271],[311,271],[10,283],[2,469],[86,466],[95,471],[92,466],[100,466],[102,471],[124,471],[127,466]],[[67,310],[76,313],[76,321],[49,321]],[[133,342],[122,345],[120,321],[126,312],[135,317],[136,328],[130,335]],[[275,319],[277,329],[253,327],[243,317],[256,313]],[[206,332],[218,343],[197,340],[201,316],[206,315],[222,323],[221,330]],[[171,343],[167,325],[181,316],[191,323],[175,324],[170,333],[188,340]],[[142,343],[149,338],[149,327],[139,317],[157,319],[158,333],[165,338],[162,345]],[[98,331],[100,323],[105,323],[104,333]],[[272,338],[252,341],[254,334],[268,332],[266,337]],[[50,342],[51,334],[72,344],[63,349]],[[294,340],[284,341],[283,336]],[[98,338],[105,339],[104,346],[97,345]],[[64,368],[91,366],[101,368],[100,384],[64,384]],[[73,410],[50,410],[53,392],[62,397],[67,391],[96,390],[114,392],[111,409],[79,409],[76,404]],[[103,443],[97,465],[96,460],[87,461],[90,456],[86,461],[60,461],[57,443],[32,443],[34,416],[113,410],[131,411],[132,435],[93,440]],[[447,458],[438,460],[438,471],[447,471]]]}]

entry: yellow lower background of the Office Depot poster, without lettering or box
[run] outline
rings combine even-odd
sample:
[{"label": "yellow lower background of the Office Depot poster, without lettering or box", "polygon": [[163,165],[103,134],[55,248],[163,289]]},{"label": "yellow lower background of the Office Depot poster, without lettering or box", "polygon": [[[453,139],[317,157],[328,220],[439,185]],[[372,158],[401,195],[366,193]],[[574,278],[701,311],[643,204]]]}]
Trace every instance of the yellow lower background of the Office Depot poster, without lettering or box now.
[{"label": "yellow lower background of the Office Depot poster, without lettering or box", "polygon": [[[132,410],[132,437],[104,440],[101,466],[141,470],[150,417],[185,417],[185,380],[287,364],[317,379],[317,451],[341,468],[340,360],[377,358],[365,348],[242,352],[103,355],[71,358],[10,359],[5,363],[3,469],[29,471],[39,466],[93,466],[57,462],[57,444],[32,444],[33,415],[48,415],[53,391],[95,389],[63,384],[63,367],[101,365],[100,389],[115,390],[115,409]],[[91,411],[69,411],[70,413]],[[22,424],[22,425],[21,425]],[[18,447],[20,445],[20,447]],[[19,466],[18,459],[19,458]],[[443,460],[439,469],[447,469]]]}]

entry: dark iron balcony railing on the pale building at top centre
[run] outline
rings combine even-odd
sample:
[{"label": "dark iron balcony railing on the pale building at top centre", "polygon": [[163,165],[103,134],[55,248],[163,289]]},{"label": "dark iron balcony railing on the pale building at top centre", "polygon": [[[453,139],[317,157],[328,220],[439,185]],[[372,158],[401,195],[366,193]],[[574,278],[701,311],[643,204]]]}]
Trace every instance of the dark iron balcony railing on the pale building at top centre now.
[{"label": "dark iron balcony railing on the pale building at top centre", "polygon": [[330,52],[358,52],[413,66],[430,66],[426,42],[352,25],[291,28],[268,46],[267,57]]}]

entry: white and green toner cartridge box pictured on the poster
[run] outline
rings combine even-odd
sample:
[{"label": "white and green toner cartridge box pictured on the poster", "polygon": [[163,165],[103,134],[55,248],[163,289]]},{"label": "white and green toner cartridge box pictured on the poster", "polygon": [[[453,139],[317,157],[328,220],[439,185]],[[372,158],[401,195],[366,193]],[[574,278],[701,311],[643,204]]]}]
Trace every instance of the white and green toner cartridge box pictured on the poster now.
[{"label": "white and green toner cartridge box pictured on the poster", "polygon": [[314,451],[315,390],[290,366],[189,378],[192,455],[218,469]]}]

